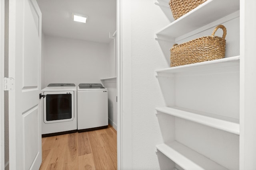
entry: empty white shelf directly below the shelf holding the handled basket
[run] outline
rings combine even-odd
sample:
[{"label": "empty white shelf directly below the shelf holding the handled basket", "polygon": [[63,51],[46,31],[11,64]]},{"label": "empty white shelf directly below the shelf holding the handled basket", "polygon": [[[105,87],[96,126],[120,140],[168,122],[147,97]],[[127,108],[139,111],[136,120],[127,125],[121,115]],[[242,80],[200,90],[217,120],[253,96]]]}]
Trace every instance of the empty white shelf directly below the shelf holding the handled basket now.
[{"label": "empty white shelf directly below the shelf holding the handled basket", "polygon": [[222,131],[226,131],[236,135],[240,134],[240,125],[238,119],[224,117],[221,115],[215,115],[202,111],[185,109],[181,107],[157,107],[156,110],[162,113],[173,115],[175,117],[180,117],[182,119],[220,129]]}]

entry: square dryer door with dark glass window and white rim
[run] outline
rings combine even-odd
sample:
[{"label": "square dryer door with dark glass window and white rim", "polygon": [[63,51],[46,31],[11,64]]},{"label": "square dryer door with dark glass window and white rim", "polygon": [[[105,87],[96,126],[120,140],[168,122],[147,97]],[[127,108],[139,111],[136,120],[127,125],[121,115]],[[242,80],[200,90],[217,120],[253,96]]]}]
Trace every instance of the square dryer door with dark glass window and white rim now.
[{"label": "square dryer door with dark glass window and white rim", "polygon": [[74,119],[74,92],[44,92],[44,123]]}]

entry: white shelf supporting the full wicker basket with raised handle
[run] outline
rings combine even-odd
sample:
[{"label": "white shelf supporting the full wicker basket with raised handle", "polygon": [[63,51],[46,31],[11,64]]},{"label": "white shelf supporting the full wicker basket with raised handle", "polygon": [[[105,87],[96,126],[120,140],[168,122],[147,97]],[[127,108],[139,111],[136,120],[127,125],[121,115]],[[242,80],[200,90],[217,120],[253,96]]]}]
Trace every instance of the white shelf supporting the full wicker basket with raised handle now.
[{"label": "white shelf supporting the full wicker basket with raised handle", "polygon": [[220,68],[229,68],[229,67],[239,67],[240,65],[240,56],[228,57],[218,60],[205,61],[201,63],[187,64],[183,66],[176,66],[170,68],[164,68],[160,70],[156,70],[156,73],[161,75],[168,75],[171,73],[178,72],[189,72],[189,71],[198,71],[198,70],[212,70],[212,69],[220,69]]}]

